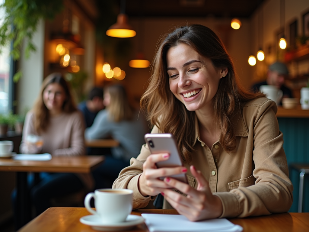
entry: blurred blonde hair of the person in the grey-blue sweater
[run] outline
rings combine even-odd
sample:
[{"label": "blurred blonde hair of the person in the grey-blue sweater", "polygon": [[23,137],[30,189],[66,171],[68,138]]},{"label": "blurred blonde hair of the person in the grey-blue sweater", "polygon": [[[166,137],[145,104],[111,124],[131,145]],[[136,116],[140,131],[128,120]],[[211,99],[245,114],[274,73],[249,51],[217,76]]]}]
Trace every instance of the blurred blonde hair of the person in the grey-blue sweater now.
[{"label": "blurred blonde hair of the person in the grey-blue sweater", "polygon": [[133,108],[129,104],[125,88],[120,85],[111,85],[104,89],[104,92],[110,95],[110,103],[106,107],[109,113],[109,119],[114,122],[122,120],[132,120]]}]

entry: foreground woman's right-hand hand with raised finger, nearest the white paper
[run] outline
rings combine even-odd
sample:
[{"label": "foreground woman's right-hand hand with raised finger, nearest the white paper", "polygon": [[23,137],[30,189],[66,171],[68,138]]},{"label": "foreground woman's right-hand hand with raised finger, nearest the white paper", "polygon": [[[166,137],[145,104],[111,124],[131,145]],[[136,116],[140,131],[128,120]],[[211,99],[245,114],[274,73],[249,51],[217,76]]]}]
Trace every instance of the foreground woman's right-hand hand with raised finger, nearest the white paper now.
[{"label": "foreground woman's right-hand hand with raised finger, nearest the white paper", "polygon": [[186,216],[190,221],[221,216],[223,207],[220,198],[211,193],[208,182],[200,171],[197,171],[194,166],[190,167],[190,171],[197,180],[197,189],[176,179],[166,177],[165,183],[187,194],[187,196],[180,195],[171,189],[164,189],[161,194],[178,213]]}]

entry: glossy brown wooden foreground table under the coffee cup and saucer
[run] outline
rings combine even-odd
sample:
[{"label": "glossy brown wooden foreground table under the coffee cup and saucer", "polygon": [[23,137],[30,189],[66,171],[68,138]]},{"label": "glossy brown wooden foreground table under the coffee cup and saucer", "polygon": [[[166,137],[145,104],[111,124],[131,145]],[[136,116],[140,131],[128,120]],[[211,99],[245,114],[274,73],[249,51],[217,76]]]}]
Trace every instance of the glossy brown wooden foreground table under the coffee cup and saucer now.
[{"label": "glossy brown wooden foreground table under the coffee cup and saucer", "polygon": [[[132,214],[163,213],[177,214],[176,210],[139,209]],[[86,208],[49,208],[30,221],[19,232],[97,232],[91,226],[79,222],[79,218],[89,215]],[[232,223],[243,227],[243,232],[308,232],[309,213],[279,213],[269,216],[233,218]],[[129,232],[147,232],[145,224],[135,227]]]}]

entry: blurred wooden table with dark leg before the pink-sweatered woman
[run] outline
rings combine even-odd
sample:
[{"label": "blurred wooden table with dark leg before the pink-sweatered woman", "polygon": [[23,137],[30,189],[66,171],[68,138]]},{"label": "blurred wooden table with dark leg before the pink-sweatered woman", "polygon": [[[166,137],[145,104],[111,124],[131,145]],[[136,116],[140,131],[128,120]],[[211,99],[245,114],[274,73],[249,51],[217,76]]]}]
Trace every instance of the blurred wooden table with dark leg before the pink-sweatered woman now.
[{"label": "blurred wooden table with dark leg before the pink-sweatered woman", "polygon": [[53,157],[49,161],[0,159],[0,171],[17,172],[16,228],[19,229],[31,219],[27,172],[90,173],[103,161],[104,156]]}]

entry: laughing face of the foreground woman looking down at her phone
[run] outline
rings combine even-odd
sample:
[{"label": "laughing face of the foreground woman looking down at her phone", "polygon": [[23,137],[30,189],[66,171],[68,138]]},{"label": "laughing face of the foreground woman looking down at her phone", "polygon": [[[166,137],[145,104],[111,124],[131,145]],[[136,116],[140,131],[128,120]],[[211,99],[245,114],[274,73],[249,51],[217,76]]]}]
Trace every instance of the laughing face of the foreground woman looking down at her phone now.
[{"label": "laughing face of the foreground woman looking down at her phone", "polygon": [[184,43],[171,47],[166,58],[170,90],[187,110],[212,107],[219,80],[227,69],[214,68],[210,59]]}]

